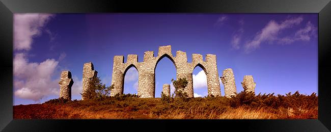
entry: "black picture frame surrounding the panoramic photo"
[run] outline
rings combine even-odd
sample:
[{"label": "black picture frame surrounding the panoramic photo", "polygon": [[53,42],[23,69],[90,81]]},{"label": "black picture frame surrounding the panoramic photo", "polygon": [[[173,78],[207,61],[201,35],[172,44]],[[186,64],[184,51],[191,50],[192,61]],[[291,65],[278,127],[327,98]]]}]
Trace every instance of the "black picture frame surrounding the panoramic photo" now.
[{"label": "black picture frame surrounding the panoramic photo", "polygon": [[[14,120],[13,13],[318,13],[318,119],[306,120]],[[62,131],[87,128],[122,130],[245,129],[247,131],[329,131],[331,129],[330,0],[256,1],[93,1],[0,0],[0,130]],[[307,75],[309,77],[309,75]],[[119,126],[124,125],[124,126]],[[108,126],[108,127],[107,127]],[[105,128],[106,127],[106,128]],[[157,127],[157,128],[151,128]],[[169,129],[167,129],[169,127]]]}]

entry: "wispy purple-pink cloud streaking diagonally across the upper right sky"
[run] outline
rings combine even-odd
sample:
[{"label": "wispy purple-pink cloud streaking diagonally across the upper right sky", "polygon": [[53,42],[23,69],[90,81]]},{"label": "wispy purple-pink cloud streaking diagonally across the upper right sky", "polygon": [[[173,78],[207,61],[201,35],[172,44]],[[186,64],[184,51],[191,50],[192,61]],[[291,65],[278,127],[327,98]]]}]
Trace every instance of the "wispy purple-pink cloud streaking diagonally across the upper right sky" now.
[{"label": "wispy purple-pink cloud streaking diagonally across the upper right sky", "polygon": [[310,22],[307,23],[306,28],[298,30],[295,35],[280,38],[278,35],[281,31],[290,29],[294,25],[298,25],[303,20],[302,17],[289,18],[282,22],[271,20],[268,24],[256,34],[253,40],[248,41],[245,45],[245,52],[249,53],[259,48],[261,43],[272,43],[277,41],[279,44],[290,44],[294,41],[302,40],[309,41],[314,35],[316,28]]}]

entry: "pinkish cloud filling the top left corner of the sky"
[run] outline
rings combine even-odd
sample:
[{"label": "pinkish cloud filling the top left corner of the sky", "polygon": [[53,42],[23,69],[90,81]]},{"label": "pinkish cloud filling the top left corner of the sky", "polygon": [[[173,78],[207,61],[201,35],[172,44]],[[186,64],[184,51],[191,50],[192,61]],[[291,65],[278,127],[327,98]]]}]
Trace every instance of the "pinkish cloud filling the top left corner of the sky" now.
[{"label": "pinkish cloud filling the top left corner of the sky", "polygon": [[52,14],[14,14],[14,49],[30,50],[33,37],[39,36]]}]

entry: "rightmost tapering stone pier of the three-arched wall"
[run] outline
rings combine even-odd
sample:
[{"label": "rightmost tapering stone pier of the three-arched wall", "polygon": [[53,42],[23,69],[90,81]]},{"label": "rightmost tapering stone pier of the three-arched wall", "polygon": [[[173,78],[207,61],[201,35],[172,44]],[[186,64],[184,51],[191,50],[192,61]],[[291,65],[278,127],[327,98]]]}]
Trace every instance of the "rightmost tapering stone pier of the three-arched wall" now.
[{"label": "rightmost tapering stone pier of the three-arched wall", "polygon": [[216,55],[207,54],[206,63],[208,95],[221,96]]}]

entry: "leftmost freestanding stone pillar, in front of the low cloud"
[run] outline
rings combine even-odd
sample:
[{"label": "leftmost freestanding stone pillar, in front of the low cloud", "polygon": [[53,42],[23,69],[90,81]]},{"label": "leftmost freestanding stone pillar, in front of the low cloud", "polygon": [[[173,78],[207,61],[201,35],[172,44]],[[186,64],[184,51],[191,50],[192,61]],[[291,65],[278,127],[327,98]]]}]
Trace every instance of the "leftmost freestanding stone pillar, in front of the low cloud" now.
[{"label": "leftmost freestanding stone pillar, in front of the low cloud", "polygon": [[61,72],[61,79],[59,85],[60,85],[60,98],[63,97],[65,99],[71,100],[71,86],[73,85],[73,80],[71,78],[70,71]]}]

